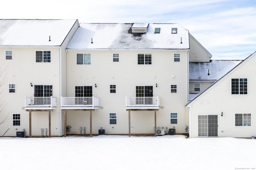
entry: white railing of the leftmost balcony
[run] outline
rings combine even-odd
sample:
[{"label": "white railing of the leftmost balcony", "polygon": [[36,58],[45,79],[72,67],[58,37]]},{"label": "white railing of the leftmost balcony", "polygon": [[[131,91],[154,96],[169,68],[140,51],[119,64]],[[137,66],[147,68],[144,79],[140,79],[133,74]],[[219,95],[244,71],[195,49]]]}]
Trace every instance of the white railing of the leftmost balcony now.
[{"label": "white railing of the leftmost balcony", "polygon": [[25,107],[56,107],[56,98],[25,96]]}]

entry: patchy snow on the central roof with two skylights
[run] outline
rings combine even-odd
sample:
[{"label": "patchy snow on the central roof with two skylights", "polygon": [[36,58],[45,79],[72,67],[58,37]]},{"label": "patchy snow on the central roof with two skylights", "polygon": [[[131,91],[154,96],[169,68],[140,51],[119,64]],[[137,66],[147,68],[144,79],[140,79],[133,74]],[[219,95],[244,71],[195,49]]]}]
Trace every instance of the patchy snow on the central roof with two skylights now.
[{"label": "patchy snow on the central roof with two skylights", "polygon": [[[149,23],[143,34],[132,33],[132,25],[80,23],[67,49],[189,49],[188,30],[178,24]],[[160,33],[154,33],[155,27],[161,28]],[[172,27],[178,33],[171,33]]]}]

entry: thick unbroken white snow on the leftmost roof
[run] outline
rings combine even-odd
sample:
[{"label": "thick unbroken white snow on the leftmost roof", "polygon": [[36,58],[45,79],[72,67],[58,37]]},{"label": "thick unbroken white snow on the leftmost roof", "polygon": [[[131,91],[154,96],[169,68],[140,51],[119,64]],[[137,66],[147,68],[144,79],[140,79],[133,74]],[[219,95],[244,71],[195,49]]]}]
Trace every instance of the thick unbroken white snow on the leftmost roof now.
[{"label": "thick unbroken white snow on the leftmost roof", "polygon": [[75,22],[0,20],[0,46],[60,46]]}]

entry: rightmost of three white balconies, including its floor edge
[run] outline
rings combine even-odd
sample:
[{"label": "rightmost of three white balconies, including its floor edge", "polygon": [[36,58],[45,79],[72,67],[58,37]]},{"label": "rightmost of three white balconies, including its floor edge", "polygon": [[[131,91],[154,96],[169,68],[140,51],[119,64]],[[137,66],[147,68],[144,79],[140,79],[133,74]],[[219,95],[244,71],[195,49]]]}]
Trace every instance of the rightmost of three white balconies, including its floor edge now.
[{"label": "rightmost of three white balconies, including its floor edge", "polygon": [[160,98],[157,97],[127,97],[126,109],[159,109]]}]

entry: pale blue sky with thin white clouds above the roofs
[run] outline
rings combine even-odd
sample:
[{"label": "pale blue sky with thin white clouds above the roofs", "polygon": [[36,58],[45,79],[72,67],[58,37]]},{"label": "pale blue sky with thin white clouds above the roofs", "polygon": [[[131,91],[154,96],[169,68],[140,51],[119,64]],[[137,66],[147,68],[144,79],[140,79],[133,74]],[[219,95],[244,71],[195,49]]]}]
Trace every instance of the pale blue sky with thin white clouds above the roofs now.
[{"label": "pale blue sky with thin white clouds above the roofs", "polygon": [[78,19],[80,23],[179,23],[212,59],[256,51],[255,0],[12,0],[1,19]]}]

